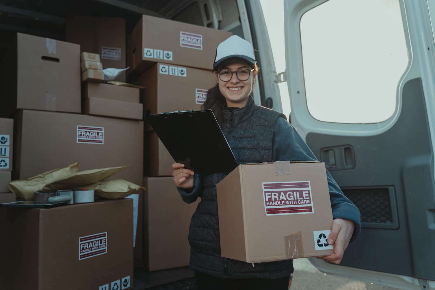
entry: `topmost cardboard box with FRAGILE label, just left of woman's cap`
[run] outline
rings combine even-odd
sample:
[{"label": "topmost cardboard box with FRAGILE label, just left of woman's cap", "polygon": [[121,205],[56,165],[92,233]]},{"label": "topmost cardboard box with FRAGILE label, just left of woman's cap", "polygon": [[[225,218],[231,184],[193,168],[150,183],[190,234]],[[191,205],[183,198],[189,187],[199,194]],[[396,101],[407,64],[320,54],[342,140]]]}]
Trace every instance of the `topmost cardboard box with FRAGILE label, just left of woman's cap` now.
[{"label": "topmost cardboard box with FRAGILE label, just left of woman's cap", "polygon": [[128,36],[128,73],[140,74],[159,61],[212,70],[216,47],[231,35],[228,31],[143,15]]}]

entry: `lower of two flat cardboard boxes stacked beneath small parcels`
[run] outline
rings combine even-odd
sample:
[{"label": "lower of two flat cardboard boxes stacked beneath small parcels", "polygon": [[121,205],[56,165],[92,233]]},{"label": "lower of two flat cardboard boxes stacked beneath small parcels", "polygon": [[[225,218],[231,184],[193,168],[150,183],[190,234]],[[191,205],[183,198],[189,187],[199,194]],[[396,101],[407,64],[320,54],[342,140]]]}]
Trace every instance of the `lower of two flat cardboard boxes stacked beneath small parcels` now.
[{"label": "lower of two flat cardboard boxes stacked beneath small parcels", "polygon": [[83,113],[86,115],[105,116],[142,120],[143,106],[141,103],[130,103],[102,98],[87,98],[84,100]]}]

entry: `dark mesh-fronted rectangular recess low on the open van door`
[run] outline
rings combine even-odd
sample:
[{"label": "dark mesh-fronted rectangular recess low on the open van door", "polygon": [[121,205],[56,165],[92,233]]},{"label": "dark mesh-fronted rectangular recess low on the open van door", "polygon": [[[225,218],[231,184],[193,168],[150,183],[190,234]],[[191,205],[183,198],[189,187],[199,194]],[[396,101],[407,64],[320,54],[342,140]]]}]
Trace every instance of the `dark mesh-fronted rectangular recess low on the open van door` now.
[{"label": "dark mesh-fronted rectangular recess low on the open van door", "polygon": [[361,223],[388,224],[393,222],[388,188],[343,189],[345,196],[358,207]]}]

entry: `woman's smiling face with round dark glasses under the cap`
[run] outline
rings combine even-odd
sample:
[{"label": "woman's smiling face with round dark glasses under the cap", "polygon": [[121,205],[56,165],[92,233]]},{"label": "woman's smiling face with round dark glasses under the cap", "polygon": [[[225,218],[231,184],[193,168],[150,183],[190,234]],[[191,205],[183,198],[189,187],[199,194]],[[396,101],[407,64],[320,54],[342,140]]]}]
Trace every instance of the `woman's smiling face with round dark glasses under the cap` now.
[{"label": "woman's smiling face with round dark glasses under the cap", "polygon": [[[237,73],[233,73],[231,79],[227,82],[221,80],[218,76],[218,73],[221,70],[230,70],[232,72],[236,72],[241,69],[246,69],[250,72],[247,80],[239,80],[236,75]],[[242,108],[248,103],[248,98],[252,92],[252,88],[254,87],[255,76],[257,74],[255,70],[251,70],[251,65],[237,58],[230,59],[219,66],[218,73],[215,73],[216,80],[219,84],[219,90],[227,102],[227,107]],[[246,71],[241,71],[241,73],[239,73],[239,77],[244,79],[243,75],[245,73]]]}]

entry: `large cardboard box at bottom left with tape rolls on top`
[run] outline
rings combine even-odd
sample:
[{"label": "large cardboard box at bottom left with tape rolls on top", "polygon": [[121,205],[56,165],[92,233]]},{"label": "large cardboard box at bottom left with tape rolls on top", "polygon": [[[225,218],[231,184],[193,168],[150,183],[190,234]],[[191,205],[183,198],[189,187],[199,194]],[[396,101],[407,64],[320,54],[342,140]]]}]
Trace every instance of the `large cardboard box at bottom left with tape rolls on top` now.
[{"label": "large cardboard box at bottom left with tape rolls on top", "polygon": [[0,207],[2,289],[133,289],[132,212],[128,199]]}]

